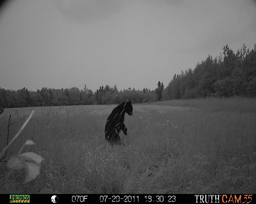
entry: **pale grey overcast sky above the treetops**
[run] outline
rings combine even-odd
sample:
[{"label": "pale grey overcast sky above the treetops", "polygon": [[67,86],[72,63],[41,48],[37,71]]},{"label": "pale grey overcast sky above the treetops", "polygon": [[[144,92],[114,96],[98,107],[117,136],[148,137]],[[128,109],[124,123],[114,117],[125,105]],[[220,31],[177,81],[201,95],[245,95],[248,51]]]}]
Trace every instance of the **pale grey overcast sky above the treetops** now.
[{"label": "pale grey overcast sky above the treetops", "polygon": [[255,0],[12,0],[0,10],[0,87],[166,87],[256,43]]}]

